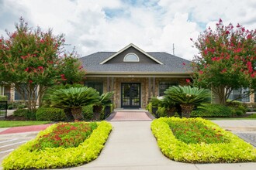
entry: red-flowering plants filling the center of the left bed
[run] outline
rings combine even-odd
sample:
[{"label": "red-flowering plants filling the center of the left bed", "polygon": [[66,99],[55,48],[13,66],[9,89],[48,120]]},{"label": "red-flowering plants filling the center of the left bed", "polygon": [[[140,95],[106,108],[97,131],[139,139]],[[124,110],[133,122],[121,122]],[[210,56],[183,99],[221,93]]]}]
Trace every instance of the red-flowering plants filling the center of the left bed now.
[{"label": "red-flowering plants filling the center of the left bed", "polygon": [[36,145],[33,145],[33,151],[44,148],[78,147],[97,127],[96,122],[60,123],[51,133],[40,136]]}]

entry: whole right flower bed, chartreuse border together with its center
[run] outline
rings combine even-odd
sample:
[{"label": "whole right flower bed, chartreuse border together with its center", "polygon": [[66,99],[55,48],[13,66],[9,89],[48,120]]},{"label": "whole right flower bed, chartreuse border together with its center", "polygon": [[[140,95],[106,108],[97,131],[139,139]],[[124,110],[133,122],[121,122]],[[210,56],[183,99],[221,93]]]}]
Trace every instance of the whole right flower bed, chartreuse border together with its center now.
[{"label": "whole right flower bed, chartreuse border together with its center", "polygon": [[[152,122],[151,130],[163,154],[178,162],[256,162],[252,145],[202,118],[161,117]],[[195,134],[200,140],[193,139]]]}]

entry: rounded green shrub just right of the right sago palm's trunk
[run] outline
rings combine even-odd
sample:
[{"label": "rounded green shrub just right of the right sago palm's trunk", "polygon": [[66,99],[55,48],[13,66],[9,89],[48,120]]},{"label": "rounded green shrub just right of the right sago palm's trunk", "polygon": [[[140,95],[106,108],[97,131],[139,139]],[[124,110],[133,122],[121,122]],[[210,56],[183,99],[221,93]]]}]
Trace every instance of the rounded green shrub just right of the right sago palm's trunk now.
[{"label": "rounded green shrub just right of the right sago palm's trunk", "polygon": [[202,104],[199,110],[193,110],[191,117],[231,117],[232,109],[221,104]]}]

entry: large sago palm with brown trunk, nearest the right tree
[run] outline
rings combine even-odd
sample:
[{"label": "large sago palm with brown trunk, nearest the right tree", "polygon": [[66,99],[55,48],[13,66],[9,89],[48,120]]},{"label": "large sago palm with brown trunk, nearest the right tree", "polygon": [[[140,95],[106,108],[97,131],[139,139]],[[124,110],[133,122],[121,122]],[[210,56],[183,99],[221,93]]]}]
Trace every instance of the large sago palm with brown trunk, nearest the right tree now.
[{"label": "large sago palm with brown trunk, nearest the right tree", "polygon": [[203,103],[209,103],[211,100],[209,90],[199,89],[198,87],[173,86],[169,87],[164,93],[172,102],[182,107],[182,117],[190,117],[194,107],[198,107]]}]

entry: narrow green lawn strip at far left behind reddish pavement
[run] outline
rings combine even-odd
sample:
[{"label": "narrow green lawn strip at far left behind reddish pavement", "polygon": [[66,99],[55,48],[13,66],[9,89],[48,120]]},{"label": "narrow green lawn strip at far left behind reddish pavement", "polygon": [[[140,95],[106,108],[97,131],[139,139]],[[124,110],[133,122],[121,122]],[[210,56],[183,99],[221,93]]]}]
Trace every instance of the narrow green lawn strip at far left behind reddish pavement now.
[{"label": "narrow green lawn strip at far left behind reddish pavement", "polygon": [[29,126],[49,123],[50,121],[0,121],[0,128],[11,128],[18,126]]}]

